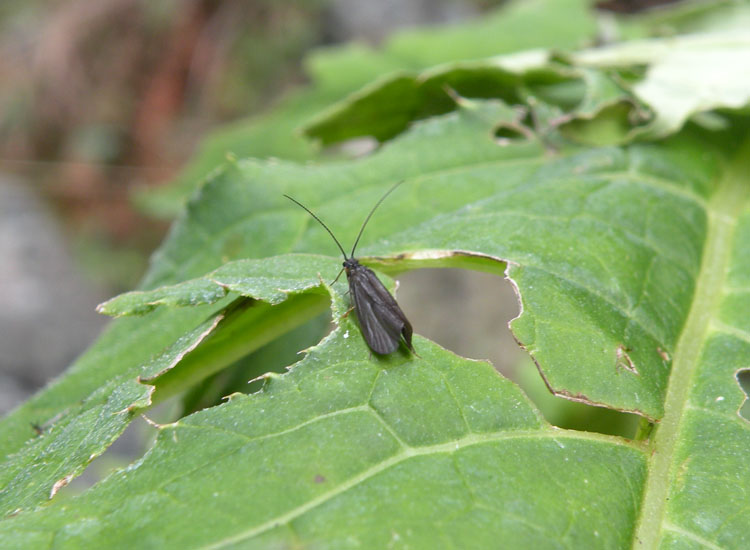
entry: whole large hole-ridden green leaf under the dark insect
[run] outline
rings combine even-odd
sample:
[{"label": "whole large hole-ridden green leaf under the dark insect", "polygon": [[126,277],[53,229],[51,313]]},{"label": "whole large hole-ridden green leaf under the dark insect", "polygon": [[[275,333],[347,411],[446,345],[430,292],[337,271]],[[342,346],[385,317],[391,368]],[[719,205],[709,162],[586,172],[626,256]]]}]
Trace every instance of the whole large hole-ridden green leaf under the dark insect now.
[{"label": "whole large hole-ridden green leaf under the dark insect", "polygon": [[[580,104],[594,115],[617,96],[597,71],[582,73],[601,92]],[[552,84],[560,104],[578,89]],[[497,139],[518,124],[501,101],[461,100],[358,161],[227,162],[142,289],[102,306],[141,316],[0,422],[3,546],[747,546],[750,123],[721,115],[627,147],[554,136],[552,151]],[[636,442],[549,426],[489,365],[423,338],[418,356],[369,352],[345,281],[330,285],[335,245],[282,193],[347,247],[399,180],[363,262],[507,269],[512,329],[550,389],[640,414]],[[139,411],[279,342],[329,297],[339,326],[291,372],[161,426],[142,460],[57,495]]]}]

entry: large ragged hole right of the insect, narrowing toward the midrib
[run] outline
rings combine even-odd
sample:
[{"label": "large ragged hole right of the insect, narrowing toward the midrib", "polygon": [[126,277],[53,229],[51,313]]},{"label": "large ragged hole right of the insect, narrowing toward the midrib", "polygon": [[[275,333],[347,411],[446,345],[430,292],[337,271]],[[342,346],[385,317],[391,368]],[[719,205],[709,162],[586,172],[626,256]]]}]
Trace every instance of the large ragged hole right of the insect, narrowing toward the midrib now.
[{"label": "large ragged hole right of the insect, narrowing toward the midrib", "polygon": [[531,358],[513,338],[518,315],[511,284],[490,273],[421,269],[398,276],[398,301],[415,332],[451,351],[489,360],[516,382],[555,426],[632,438],[640,416],[552,395]]}]

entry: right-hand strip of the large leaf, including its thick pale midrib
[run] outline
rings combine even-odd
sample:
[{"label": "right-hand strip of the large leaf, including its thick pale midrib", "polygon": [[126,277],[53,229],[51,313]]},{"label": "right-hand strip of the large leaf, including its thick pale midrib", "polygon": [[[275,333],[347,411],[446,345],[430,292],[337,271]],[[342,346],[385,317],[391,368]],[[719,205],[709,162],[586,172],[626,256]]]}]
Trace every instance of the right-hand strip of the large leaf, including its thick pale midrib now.
[{"label": "right-hand strip of the large leaf, including its thick pale midrib", "polygon": [[741,548],[750,490],[750,422],[737,375],[750,365],[750,140],[727,166],[708,207],[704,259],[654,437],[636,533],[645,546]]}]

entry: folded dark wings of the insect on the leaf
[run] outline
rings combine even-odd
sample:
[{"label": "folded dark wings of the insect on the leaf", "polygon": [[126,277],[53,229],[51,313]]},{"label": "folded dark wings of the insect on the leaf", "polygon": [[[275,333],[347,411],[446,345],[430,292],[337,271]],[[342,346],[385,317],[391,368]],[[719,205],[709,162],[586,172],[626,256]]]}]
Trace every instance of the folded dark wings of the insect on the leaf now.
[{"label": "folded dark wings of the insect on the leaf", "polygon": [[414,351],[411,323],[375,273],[363,265],[357,265],[347,275],[367,345],[375,353],[385,355],[398,349],[403,336],[406,345]]}]

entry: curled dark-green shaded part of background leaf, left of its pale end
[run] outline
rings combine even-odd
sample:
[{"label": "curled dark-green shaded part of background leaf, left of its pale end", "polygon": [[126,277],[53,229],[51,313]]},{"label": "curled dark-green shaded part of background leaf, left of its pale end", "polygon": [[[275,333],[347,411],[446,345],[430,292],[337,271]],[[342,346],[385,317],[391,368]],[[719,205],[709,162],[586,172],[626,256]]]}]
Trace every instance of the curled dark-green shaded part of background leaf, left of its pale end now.
[{"label": "curled dark-green shaded part of background leaf, left of its pale end", "polygon": [[566,137],[595,145],[623,143],[647,119],[636,97],[606,70],[561,65],[550,54],[531,51],[391,75],[324,111],[304,130],[326,144],[359,136],[386,141],[415,120],[452,111],[460,103],[456,96],[528,104],[537,125],[543,123],[537,130],[559,126]]}]

